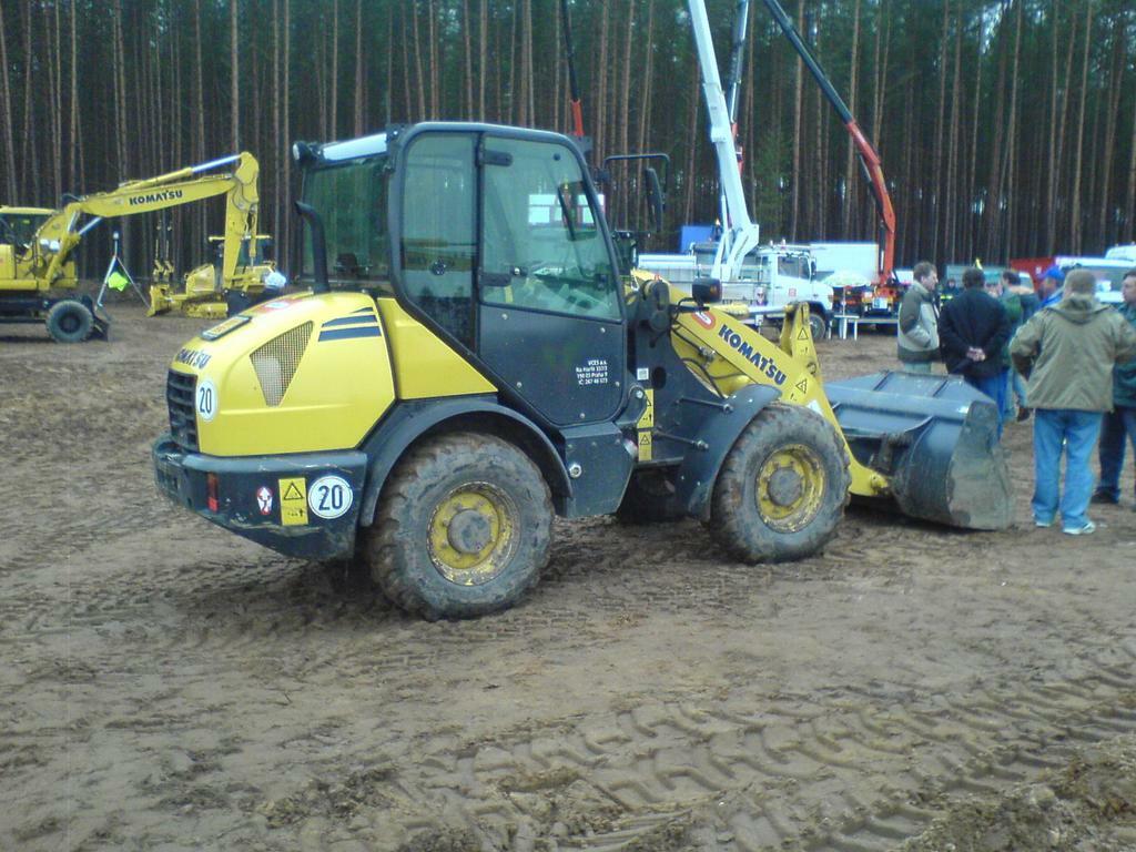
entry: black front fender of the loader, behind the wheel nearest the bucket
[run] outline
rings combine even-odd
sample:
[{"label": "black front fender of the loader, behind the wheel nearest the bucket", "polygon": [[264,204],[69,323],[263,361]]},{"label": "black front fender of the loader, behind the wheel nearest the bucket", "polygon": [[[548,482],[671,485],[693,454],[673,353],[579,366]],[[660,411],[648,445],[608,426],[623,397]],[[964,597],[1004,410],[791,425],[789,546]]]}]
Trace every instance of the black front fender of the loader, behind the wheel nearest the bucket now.
[{"label": "black front fender of the loader, behind the wheel nearest the bucket", "polygon": [[721,408],[707,416],[675,475],[675,499],[687,515],[710,517],[710,498],[726,454],[738,435],[780,391],[769,385],[750,385],[722,400]]}]

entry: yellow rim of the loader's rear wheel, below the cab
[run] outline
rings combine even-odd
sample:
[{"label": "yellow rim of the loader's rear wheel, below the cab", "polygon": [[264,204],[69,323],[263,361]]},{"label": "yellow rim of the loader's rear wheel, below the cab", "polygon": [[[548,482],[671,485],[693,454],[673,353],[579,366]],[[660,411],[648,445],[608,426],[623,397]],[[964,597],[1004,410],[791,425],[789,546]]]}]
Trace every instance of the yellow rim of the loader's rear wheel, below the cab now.
[{"label": "yellow rim of the loader's rear wheel, below the cab", "polygon": [[496,577],[517,550],[517,504],[490,483],[446,494],[429,520],[429,558],[451,583],[476,586]]}]

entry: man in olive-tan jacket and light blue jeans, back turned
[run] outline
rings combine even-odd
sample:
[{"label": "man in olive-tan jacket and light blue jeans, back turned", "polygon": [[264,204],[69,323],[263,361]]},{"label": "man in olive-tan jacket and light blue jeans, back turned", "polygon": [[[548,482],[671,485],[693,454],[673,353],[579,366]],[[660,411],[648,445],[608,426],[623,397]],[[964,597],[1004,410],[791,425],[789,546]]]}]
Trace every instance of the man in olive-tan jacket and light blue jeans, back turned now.
[{"label": "man in olive-tan jacket and light blue jeans, back turned", "polygon": [[1068,535],[1096,529],[1086,511],[1093,494],[1089,457],[1101,415],[1112,409],[1112,366],[1136,358],[1136,329],[1096,301],[1096,278],[1075,269],[1056,304],[1042,308],[1010,344],[1013,366],[1028,377],[1034,421],[1034,523],[1058,515],[1061,453],[1066,462],[1061,524]]}]

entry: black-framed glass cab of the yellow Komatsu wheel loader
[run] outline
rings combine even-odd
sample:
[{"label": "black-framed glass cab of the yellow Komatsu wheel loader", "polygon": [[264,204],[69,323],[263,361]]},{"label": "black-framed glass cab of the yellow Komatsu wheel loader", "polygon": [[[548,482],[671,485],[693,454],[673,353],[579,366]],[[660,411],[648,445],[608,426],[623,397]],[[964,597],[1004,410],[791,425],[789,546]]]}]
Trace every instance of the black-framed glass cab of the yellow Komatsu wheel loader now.
[{"label": "black-framed glass cab of the yellow Komatsu wheel loader", "polygon": [[415,125],[324,147],[309,157],[303,194],[324,219],[331,286],[393,295],[549,427],[621,410],[623,287],[570,140]]}]

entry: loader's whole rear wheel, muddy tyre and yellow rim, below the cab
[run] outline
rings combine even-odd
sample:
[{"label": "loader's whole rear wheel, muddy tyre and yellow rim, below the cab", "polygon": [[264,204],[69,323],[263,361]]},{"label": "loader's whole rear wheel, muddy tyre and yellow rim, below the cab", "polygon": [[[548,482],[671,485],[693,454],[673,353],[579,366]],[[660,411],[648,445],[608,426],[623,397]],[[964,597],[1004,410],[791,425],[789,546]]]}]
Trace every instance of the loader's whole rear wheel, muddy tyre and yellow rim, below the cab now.
[{"label": "loader's whole rear wheel, muddy tyre and yellow rim, below the cab", "polygon": [[443,435],[399,462],[365,536],[371,577],[393,603],[432,621],[475,618],[513,605],[540,579],[552,500],[512,444]]}]

